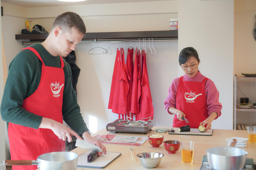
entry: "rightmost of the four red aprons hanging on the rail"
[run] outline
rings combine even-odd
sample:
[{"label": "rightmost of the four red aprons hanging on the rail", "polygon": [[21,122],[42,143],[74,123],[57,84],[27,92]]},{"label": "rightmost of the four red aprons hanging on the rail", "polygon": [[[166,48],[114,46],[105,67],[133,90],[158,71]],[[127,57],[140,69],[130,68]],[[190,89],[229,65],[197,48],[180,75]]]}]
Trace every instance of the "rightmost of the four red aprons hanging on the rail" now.
[{"label": "rightmost of the four red aprons hanging on the rail", "polygon": [[141,118],[154,117],[153,101],[151,97],[149,80],[148,80],[148,69],[146,61],[146,52],[142,50],[142,78],[141,78],[141,100],[140,100],[140,114],[138,115],[138,120]]}]

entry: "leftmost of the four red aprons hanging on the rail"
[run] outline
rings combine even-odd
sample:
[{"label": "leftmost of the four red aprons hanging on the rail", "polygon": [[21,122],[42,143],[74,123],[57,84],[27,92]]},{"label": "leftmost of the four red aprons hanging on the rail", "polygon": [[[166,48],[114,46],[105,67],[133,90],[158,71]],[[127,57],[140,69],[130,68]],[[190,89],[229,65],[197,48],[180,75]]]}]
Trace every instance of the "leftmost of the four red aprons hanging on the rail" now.
[{"label": "leftmost of the four red aprons hanging on the rail", "polygon": [[121,52],[120,51],[118,52],[117,50],[117,57],[119,58],[117,59],[117,64],[115,64],[117,68],[114,69],[116,73],[113,72],[113,77],[114,77],[114,74],[116,75],[116,80],[114,81],[115,86],[114,86],[114,89],[110,90],[110,95],[113,97],[112,112],[126,115],[129,82],[127,80],[127,74],[125,71],[125,60],[124,60],[123,48],[121,48]]}]

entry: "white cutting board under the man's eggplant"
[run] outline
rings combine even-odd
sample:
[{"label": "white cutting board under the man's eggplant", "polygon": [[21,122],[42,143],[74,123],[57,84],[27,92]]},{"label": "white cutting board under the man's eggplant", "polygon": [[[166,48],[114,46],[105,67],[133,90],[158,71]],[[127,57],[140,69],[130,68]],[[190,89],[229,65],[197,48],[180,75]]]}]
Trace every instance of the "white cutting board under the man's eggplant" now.
[{"label": "white cutting board under the man's eggplant", "polygon": [[121,155],[120,152],[107,152],[106,154],[97,157],[93,162],[87,163],[87,156],[90,152],[91,151],[88,150],[78,156],[77,167],[105,168]]}]

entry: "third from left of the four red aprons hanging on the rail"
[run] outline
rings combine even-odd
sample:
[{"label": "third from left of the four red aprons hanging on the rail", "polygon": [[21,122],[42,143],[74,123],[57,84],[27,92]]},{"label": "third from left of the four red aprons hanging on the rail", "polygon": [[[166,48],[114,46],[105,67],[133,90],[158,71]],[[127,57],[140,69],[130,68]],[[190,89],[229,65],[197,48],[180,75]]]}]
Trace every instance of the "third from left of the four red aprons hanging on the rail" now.
[{"label": "third from left of the four red aprons hanging on the rail", "polygon": [[140,96],[141,96],[141,65],[140,65],[140,50],[136,48],[133,70],[132,82],[132,99],[131,99],[131,113],[136,115],[135,120],[138,120],[140,113]]}]

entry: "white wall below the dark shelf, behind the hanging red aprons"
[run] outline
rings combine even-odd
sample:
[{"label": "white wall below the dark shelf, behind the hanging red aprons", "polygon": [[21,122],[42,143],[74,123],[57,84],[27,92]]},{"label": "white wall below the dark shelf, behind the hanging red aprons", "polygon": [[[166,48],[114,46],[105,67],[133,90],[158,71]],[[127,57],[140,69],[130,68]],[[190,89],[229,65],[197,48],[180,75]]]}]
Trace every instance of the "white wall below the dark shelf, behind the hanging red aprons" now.
[{"label": "white wall below the dark shelf, behind the hanging red aprons", "polygon": [[[107,48],[108,43],[100,43],[100,47]],[[105,128],[118,118],[117,114],[111,113],[108,107],[111,79],[113,75],[116,48],[118,43],[110,43],[112,55],[88,55],[88,51],[95,47],[95,43],[77,45],[77,64],[81,68],[78,81],[78,101],[81,111],[87,123],[89,116],[98,118],[98,128]],[[127,52],[130,43],[123,43]],[[135,43],[132,43],[135,48]],[[154,104],[154,125],[172,126],[172,118],[166,118],[168,114],[164,109],[164,99],[171,81],[177,77],[178,42],[155,42],[156,54],[147,55],[147,65],[151,95]],[[98,130],[99,130],[98,129]]]}]

